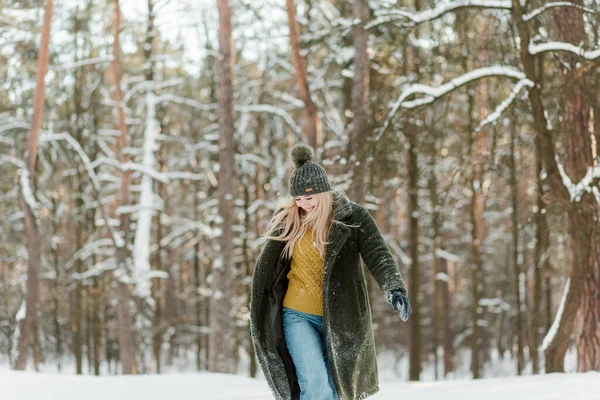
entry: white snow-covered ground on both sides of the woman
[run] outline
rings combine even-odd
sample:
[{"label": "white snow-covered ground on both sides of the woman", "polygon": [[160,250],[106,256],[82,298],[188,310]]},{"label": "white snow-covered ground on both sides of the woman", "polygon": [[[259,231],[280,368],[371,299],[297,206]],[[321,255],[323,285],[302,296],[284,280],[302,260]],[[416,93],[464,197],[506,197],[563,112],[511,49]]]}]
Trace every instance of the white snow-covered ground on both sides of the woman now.
[{"label": "white snow-covered ground on both sides of the woman", "polygon": [[[223,374],[75,376],[0,370],[2,400],[269,400],[264,380]],[[382,383],[374,400],[598,400],[600,373]]]}]

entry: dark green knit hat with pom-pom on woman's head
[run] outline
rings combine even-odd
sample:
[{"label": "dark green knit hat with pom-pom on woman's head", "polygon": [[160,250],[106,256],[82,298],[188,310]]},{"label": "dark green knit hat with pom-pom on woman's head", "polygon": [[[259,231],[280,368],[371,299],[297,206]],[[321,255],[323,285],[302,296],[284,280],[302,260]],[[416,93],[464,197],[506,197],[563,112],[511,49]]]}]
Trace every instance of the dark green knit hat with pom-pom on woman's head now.
[{"label": "dark green knit hat with pom-pom on woman's head", "polygon": [[290,152],[296,169],[290,178],[292,197],[328,192],[331,190],[327,173],[313,161],[315,153],[310,146],[297,144]]}]

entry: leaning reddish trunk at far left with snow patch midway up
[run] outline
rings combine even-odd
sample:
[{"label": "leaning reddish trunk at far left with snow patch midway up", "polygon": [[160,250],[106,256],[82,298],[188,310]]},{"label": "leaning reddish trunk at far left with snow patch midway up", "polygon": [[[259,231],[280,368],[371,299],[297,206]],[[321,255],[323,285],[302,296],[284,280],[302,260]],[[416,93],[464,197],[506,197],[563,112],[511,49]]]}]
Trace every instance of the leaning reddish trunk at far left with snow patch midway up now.
[{"label": "leaning reddish trunk at far left with snow patch midway up", "polygon": [[[25,318],[21,324],[21,335],[19,337],[18,355],[15,369],[25,370],[27,367],[27,356],[29,354],[29,341],[37,325],[37,308],[39,298],[39,274],[41,264],[40,232],[35,214],[35,166],[38,152],[38,138],[44,115],[44,101],[46,91],[46,71],[48,70],[48,45],[50,43],[50,24],[52,22],[52,11],[54,1],[46,0],[44,11],[44,22],[42,24],[42,39],[40,42],[36,86],[33,105],[33,119],[31,129],[27,135],[27,164],[23,171],[21,184],[24,196],[21,198],[21,207],[25,214],[25,236],[27,238],[27,298],[25,306]],[[28,192],[28,193],[27,193]]]}]

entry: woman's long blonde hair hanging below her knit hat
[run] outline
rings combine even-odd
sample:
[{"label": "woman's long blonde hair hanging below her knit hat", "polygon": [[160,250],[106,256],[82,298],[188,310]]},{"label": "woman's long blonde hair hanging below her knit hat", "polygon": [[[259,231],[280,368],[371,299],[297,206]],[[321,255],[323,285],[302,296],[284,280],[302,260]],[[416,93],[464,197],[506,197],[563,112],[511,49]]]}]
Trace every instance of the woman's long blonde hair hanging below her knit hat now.
[{"label": "woman's long blonde hair hanging below her knit hat", "polygon": [[283,248],[285,258],[292,258],[294,245],[306,231],[313,228],[313,241],[321,257],[325,257],[327,235],[333,221],[333,196],[331,192],[312,195],[317,200],[315,209],[306,214],[296,205],[294,198],[286,201],[280,207],[265,230],[264,237],[271,240],[286,242]]}]

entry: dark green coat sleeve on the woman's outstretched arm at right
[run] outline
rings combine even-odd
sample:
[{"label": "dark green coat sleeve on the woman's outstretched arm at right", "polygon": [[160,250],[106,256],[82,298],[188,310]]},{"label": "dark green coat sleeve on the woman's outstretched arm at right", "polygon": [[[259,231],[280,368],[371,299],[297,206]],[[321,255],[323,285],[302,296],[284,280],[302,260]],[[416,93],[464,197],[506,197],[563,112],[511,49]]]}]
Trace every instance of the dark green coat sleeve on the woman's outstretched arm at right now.
[{"label": "dark green coat sleeve on the woman's outstretched arm at right", "polygon": [[375,278],[386,299],[393,290],[401,290],[406,294],[406,285],[394,256],[366,208],[359,207],[359,219],[359,250],[369,273]]}]

